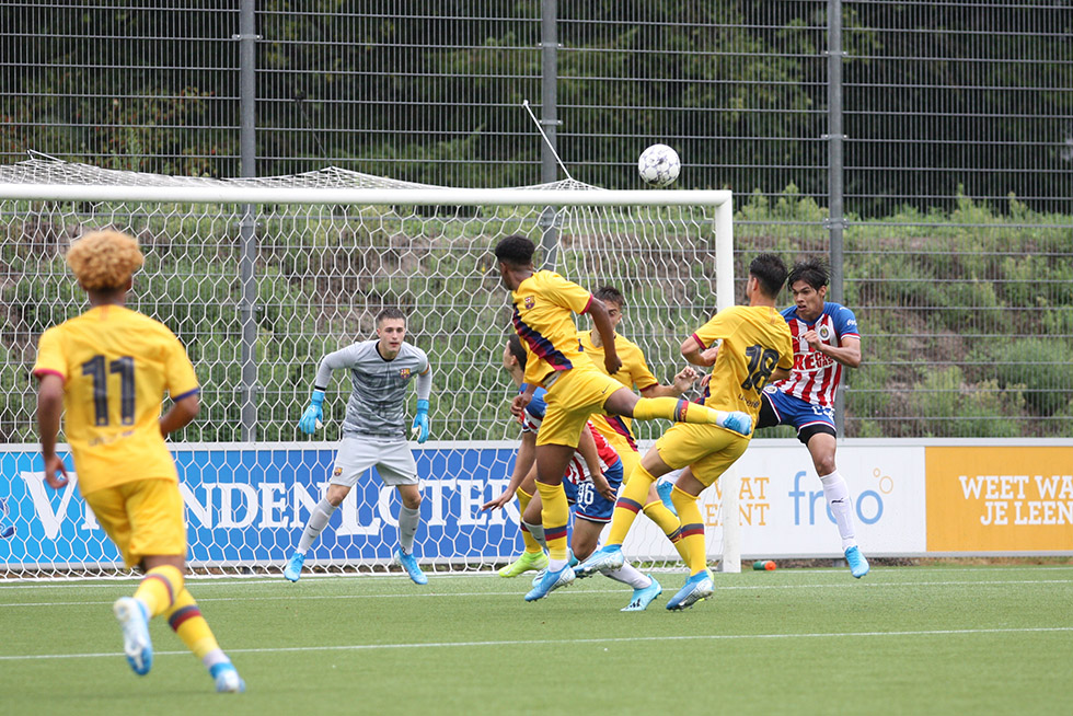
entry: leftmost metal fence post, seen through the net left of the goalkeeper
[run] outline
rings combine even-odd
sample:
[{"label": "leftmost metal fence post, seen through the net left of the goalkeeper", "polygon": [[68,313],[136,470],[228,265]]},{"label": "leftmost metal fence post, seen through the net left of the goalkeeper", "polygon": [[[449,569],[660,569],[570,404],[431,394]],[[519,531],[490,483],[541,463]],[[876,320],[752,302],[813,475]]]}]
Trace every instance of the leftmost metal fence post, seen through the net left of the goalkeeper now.
[{"label": "leftmost metal fence post, seen through the net left of the goalkeeper", "polygon": [[[239,14],[239,148],[242,176],[257,175],[256,112],[256,0],[242,0]],[[242,281],[242,440],[257,439],[257,281],[254,262],[257,255],[257,207],[241,208],[239,222]]]}]

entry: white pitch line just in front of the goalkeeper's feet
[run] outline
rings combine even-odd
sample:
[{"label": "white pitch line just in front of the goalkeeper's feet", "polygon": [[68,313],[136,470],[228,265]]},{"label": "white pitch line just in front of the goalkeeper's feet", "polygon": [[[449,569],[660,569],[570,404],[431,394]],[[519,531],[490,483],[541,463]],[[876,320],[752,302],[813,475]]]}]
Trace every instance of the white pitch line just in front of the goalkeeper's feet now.
[{"label": "white pitch line just in front of the goalkeeper's feet", "polygon": [[[279,584],[278,580],[264,584]],[[769,589],[897,589],[921,587],[1003,587],[1007,585],[1070,585],[1073,579],[994,579],[988,581],[897,581],[897,582],[876,582],[876,581],[846,581],[841,585],[740,585],[740,586],[717,586],[716,592],[725,591],[759,591]],[[243,585],[244,586],[244,585]],[[200,588],[201,585],[198,586]],[[564,596],[574,594],[619,594],[627,593],[623,589],[586,589],[565,592]],[[517,597],[521,591],[470,591],[470,592],[399,592],[394,594],[263,594],[259,597],[200,597],[198,602],[265,602],[265,601],[296,601],[296,600],[322,600],[322,599],[432,599],[432,598],[465,598],[473,597]],[[0,609],[10,607],[83,607],[111,604],[112,601],[77,601],[77,602],[19,602],[4,604],[0,603]]]}]

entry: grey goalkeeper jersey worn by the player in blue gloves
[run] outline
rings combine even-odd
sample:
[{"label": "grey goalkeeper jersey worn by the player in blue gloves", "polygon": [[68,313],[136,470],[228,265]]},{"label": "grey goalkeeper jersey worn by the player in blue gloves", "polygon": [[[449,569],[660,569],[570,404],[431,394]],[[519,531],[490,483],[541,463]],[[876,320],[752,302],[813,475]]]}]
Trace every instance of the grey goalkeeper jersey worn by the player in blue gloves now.
[{"label": "grey goalkeeper jersey worn by the player in blue gloves", "polygon": [[349,369],[354,389],[346,404],[343,434],[405,438],[406,385],[428,370],[428,356],[404,342],[399,355],[385,360],[377,350],[378,343],[362,340],[324,356],[314,384],[326,388],[333,370]]}]

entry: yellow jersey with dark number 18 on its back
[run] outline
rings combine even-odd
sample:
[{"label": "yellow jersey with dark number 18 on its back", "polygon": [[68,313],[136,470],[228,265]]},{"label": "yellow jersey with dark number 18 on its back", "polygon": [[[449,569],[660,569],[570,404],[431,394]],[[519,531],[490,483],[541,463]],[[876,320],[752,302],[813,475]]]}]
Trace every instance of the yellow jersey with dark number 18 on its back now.
[{"label": "yellow jersey with dark number 18 on its back", "polygon": [[704,404],[719,411],[760,415],[760,393],[775,368],[794,367],[794,345],[786,319],[766,305],[734,305],[697,328],[701,349],[723,344],[712,366]]}]

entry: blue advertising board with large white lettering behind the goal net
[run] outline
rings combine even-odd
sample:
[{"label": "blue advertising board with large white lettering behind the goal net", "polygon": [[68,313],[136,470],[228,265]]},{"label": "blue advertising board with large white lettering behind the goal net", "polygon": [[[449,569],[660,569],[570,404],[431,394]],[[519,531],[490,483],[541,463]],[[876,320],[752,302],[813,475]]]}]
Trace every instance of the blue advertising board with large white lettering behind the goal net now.
[{"label": "blue advertising board with large white lettering behind the goal net", "polygon": [[[432,443],[429,443],[432,444]],[[43,482],[37,446],[0,449],[0,563],[9,568],[119,565],[72,484]],[[494,562],[521,548],[517,507],[481,511],[506,486],[511,443],[415,450],[422,481],[423,562]],[[331,476],[334,446],[194,444],[173,450],[194,565],[281,564]],[[68,470],[72,464],[68,460]],[[386,563],[399,542],[399,497],[374,474],[359,480],[308,555],[310,564]]]}]

